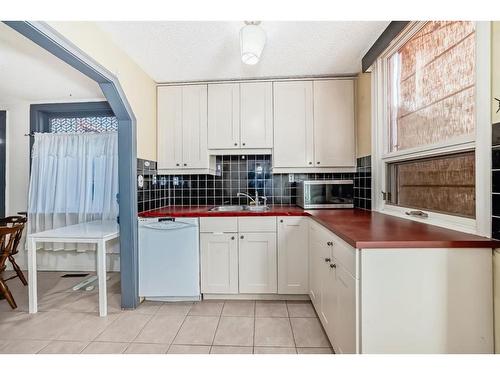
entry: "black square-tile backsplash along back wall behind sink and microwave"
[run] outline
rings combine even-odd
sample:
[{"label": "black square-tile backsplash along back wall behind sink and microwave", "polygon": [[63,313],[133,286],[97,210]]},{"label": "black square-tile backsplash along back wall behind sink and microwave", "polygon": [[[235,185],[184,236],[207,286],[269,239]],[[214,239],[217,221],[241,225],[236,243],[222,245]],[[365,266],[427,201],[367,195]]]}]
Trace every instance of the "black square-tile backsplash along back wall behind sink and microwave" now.
[{"label": "black square-tile backsplash along back wall behind sink and microwave", "polygon": [[[148,164],[148,165],[146,165]],[[370,160],[358,159],[356,173],[272,174],[271,155],[225,155],[216,157],[215,176],[157,175],[156,162],[138,159],[137,174],[144,186],[138,186],[139,212],[167,205],[205,206],[248,204],[238,192],[267,197],[268,204],[289,205],[297,200],[296,183],[301,180],[352,179],[355,182],[355,206],[371,209]]]}]

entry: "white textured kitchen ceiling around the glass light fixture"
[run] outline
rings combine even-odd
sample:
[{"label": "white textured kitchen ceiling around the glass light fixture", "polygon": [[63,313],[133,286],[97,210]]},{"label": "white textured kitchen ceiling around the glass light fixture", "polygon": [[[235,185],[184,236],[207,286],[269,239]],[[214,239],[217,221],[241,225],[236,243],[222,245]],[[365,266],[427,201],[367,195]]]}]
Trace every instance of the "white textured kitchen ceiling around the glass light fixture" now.
[{"label": "white textured kitchen ceiling around the glass light fixture", "polygon": [[98,22],[157,82],[358,73],[389,21],[262,22],[267,44],[241,62],[243,22]]}]

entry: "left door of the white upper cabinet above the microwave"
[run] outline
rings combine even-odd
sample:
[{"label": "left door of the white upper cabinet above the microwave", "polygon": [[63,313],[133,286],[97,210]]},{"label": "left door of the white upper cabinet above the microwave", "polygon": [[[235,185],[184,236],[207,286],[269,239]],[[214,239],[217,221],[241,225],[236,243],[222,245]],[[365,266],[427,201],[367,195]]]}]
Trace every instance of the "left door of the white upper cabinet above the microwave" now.
[{"label": "left door of the white upper cabinet above the microwave", "polygon": [[274,167],[313,166],[311,81],[274,83]]}]

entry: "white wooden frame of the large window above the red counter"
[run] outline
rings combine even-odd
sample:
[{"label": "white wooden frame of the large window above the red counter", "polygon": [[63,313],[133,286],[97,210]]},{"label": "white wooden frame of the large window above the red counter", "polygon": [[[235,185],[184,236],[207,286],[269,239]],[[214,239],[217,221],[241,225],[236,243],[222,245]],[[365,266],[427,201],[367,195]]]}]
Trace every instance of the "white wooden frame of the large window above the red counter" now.
[{"label": "white wooden frame of the large window above the red counter", "polygon": [[[374,211],[462,232],[491,236],[491,22],[476,22],[476,129],[472,136],[408,150],[389,152],[388,59],[427,22],[411,22],[372,66],[372,202]],[[427,218],[406,215],[410,207],[383,200],[387,164],[414,158],[475,151],[476,218],[425,211]]]}]

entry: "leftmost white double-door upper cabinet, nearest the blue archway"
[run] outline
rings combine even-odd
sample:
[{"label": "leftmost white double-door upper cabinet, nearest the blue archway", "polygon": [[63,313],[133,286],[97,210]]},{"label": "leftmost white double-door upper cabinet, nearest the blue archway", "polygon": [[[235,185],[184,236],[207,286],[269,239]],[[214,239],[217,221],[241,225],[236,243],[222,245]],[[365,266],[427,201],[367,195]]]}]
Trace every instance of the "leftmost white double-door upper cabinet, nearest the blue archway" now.
[{"label": "leftmost white double-door upper cabinet, nearest the blue archway", "polygon": [[158,88],[158,169],[208,170],[207,85]]}]

